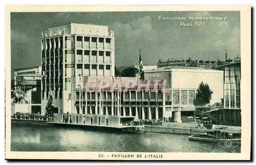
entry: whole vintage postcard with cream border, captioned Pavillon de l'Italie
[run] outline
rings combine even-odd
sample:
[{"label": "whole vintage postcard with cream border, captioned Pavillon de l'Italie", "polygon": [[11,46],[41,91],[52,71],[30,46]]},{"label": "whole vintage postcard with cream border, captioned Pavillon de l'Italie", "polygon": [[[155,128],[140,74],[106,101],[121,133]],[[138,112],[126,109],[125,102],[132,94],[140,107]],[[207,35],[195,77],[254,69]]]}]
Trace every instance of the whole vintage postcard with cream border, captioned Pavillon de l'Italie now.
[{"label": "whole vintage postcard with cream border, captioned Pavillon de l'Italie", "polygon": [[250,6],[6,6],[5,34],[6,159],[250,159]]}]

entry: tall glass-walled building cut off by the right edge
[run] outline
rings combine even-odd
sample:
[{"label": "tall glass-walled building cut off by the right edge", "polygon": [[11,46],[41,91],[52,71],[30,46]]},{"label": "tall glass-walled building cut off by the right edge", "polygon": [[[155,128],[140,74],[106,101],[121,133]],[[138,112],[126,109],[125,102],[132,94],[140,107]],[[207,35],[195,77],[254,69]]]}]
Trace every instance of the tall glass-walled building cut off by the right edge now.
[{"label": "tall glass-walled building cut off by the right edge", "polygon": [[223,107],[207,114],[224,125],[241,126],[241,59],[220,65],[223,75]]}]

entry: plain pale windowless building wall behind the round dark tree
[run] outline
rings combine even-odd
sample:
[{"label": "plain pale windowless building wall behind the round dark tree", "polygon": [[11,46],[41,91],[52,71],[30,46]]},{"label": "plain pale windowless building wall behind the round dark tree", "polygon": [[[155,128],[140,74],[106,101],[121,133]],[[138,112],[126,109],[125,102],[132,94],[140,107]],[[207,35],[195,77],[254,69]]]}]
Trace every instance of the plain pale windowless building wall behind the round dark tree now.
[{"label": "plain pale windowless building wall behind the round dark tree", "polygon": [[223,97],[223,71],[220,70],[172,66],[144,72],[145,79],[165,79],[166,86],[170,89],[197,90],[203,81],[214,92],[210,104],[220,102]]}]

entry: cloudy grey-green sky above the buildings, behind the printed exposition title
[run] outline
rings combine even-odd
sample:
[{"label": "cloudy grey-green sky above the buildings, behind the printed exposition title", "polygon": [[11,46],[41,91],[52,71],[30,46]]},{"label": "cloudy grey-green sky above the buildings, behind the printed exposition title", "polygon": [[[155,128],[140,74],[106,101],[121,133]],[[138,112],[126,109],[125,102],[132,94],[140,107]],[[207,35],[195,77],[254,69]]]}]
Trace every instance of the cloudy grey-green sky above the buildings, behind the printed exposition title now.
[{"label": "cloudy grey-green sky above the buildings, behind the printed exposition title", "polygon": [[[186,17],[186,20],[159,20],[162,17]],[[196,27],[188,16],[227,17],[227,20],[205,20]],[[117,67],[138,65],[139,49],[144,65],[188,59],[224,60],[240,56],[239,11],[176,12],[61,12],[11,13],[11,71],[40,66],[41,32],[66,23],[109,26],[115,31],[115,64]],[[180,26],[181,22],[193,26]]]}]

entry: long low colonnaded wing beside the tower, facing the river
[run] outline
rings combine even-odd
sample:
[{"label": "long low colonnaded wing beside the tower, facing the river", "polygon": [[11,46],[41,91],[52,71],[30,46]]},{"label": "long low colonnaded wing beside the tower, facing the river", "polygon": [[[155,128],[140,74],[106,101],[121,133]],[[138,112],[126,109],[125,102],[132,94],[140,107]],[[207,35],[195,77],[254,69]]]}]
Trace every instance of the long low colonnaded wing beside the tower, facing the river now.
[{"label": "long low colonnaded wing beside the tower, facing the river", "polygon": [[[84,79],[84,82],[93,81],[93,79],[97,79],[97,82],[109,79],[110,87],[115,81],[110,77],[88,77]],[[71,114],[135,116],[142,120],[174,117],[173,121],[180,122],[181,115],[188,117],[190,115],[187,112],[193,114],[195,110],[193,106],[195,89],[169,89],[163,85],[163,80],[161,80],[158,82],[157,90],[154,90],[155,84],[152,80],[150,80],[151,85],[146,89],[138,87],[137,77],[116,77],[115,79],[120,80],[119,90],[111,88],[99,90],[95,84],[84,88],[84,84],[81,84],[82,88],[76,89],[75,97],[68,100],[74,105],[68,112]],[[130,88],[126,80],[133,80],[136,85]],[[146,85],[147,81],[145,80],[143,85]]]}]

